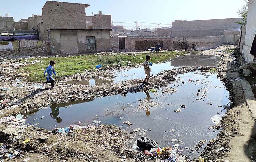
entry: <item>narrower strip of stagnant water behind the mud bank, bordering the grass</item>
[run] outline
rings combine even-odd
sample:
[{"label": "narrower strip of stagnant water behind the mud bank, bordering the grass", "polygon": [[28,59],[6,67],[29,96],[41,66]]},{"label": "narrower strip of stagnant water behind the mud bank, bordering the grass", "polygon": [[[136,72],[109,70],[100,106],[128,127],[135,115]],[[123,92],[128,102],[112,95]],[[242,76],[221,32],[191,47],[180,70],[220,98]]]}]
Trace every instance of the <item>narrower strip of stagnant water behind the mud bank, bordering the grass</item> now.
[{"label": "narrower strip of stagnant water behind the mud bank, bordering the grass", "polygon": [[[174,58],[172,61],[165,63],[153,64],[151,68],[151,75],[156,75],[164,70],[171,70],[177,67],[184,66],[215,66],[219,63],[218,56],[208,56],[208,55],[182,55]],[[68,81],[68,84],[79,84],[79,85],[99,85],[99,84],[111,84],[120,81],[126,81],[130,79],[144,79],[146,74],[144,73],[144,67],[137,68],[127,68],[124,70],[116,70],[113,76],[98,76],[96,78],[83,79],[80,81]]]}]

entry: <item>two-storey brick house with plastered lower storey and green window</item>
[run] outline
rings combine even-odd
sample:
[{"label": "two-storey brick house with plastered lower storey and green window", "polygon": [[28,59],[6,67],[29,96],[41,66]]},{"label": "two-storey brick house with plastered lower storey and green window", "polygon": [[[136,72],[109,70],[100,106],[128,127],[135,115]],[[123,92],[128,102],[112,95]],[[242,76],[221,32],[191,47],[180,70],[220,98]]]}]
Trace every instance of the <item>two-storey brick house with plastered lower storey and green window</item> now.
[{"label": "two-storey brick house with plastered lower storey and green window", "polygon": [[47,1],[42,8],[44,38],[51,54],[74,54],[110,49],[111,15],[86,16],[89,4]]}]

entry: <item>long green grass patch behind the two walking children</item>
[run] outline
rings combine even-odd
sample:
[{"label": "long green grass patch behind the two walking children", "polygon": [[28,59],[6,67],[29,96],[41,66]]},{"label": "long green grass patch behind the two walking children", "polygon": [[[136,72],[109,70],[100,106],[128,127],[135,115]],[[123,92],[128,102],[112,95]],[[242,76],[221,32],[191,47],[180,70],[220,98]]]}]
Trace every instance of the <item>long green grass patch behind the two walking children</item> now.
[{"label": "long green grass patch behind the two walking children", "polygon": [[[150,54],[150,62],[157,63],[170,60],[177,55],[183,55],[188,53],[197,53],[197,51],[181,51],[179,53],[175,51],[165,51],[156,53],[143,53],[143,54],[115,54],[115,55],[83,55],[83,56],[71,56],[71,57],[50,57],[50,58],[38,58],[38,59],[26,59],[28,61],[39,60],[36,64],[30,64],[25,67],[18,68],[21,73],[28,73],[28,81],[44,81],[43,73],[46,67],[49,66],[50,60],[55,60],[54,66],[58,77],[70,76],[72,74],[83,73],[85,69],[92,70],[96,65],[102,64],[101,68],[105,66],[117,67],[113,65],[121,62],[121,66],[127,66],[130,63],[133,65],[143,63],[146,59],[146,55]],[[25,62],[25,59],[21,59],[21,62]]]}]

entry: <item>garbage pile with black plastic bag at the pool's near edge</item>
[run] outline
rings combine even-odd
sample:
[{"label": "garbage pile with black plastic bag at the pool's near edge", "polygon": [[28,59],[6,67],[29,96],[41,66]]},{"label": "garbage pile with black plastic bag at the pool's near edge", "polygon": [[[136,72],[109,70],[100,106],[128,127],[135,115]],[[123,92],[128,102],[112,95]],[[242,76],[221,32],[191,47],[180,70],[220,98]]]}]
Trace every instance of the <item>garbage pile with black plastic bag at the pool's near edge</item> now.
[{"label": "garbage pile with black plastic bag at the pool's near edge", "polygon": [[173,147],[161,148],[157,141],[153,141],[142,136],[133,144],[133,150],[141,152],[138,154],[138,158],[136,159],[137,161],[141,160],[140,158],[142,158],[143,155],[150,156],[150,159],[151,157],[160,155],[163,159],[160,160],[160,162],[185,162],[185,157],[181,154],[184,150],[179,149],[178,146],[179,144],[174,144]]}]

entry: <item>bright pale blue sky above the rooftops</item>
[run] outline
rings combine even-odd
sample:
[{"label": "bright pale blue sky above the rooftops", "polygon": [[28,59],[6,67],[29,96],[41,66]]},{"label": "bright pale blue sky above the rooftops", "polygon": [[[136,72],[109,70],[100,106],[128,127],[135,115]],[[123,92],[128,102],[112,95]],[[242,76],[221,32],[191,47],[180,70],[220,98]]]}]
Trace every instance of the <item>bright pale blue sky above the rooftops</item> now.
[{"label": "bright pale blue sky above the rooftops", "polygon": [[[136,29],[134,21],[172,24],[172,21],[203,20],[219,18],[238,18],[236,13],[245,4],[244,0],[58,0],[90,4],[86,15],[98,13],[112,15],[114,25],[124,25],[126,29]],[[0,16],[9,13],[15,21],[31,17],[31,14],[42,15],[46,0],[1,0]],[[138,23],[140,28],[158,27],[156,24]],[[170,25],[160,25],[170,26]]]}]

